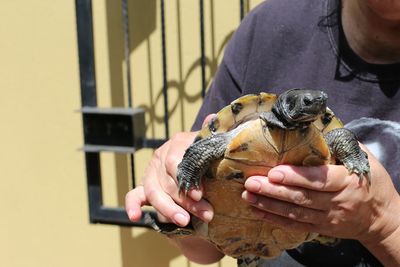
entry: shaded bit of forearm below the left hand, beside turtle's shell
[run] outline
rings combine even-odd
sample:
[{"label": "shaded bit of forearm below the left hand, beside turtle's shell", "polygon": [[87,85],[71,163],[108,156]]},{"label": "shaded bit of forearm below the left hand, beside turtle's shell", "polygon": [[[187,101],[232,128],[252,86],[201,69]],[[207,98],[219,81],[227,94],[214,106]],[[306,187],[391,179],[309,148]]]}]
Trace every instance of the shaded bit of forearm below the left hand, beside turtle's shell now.
[{"label": "shaded bit of forearm below the left hand, beside turtle's shell", "polygon": [[169,239],[190,261],[211,264],[224,257],[214,245],[198,237],[174,237]]}]

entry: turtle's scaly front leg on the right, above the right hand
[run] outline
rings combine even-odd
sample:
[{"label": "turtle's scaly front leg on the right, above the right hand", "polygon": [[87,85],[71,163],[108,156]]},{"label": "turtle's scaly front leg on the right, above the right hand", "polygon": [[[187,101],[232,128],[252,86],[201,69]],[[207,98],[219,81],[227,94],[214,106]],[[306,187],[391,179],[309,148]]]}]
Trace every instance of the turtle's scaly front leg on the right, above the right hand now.
[{"label": "turtle's scaly front leg on the right, above the right hand", "polygon": [[371,184],[368,155],[361,149],[353,132],[345,128],[333,129],[325,135],[325,140],[331,153],[349,172],[356,173],[360,179],[366,176]]}]

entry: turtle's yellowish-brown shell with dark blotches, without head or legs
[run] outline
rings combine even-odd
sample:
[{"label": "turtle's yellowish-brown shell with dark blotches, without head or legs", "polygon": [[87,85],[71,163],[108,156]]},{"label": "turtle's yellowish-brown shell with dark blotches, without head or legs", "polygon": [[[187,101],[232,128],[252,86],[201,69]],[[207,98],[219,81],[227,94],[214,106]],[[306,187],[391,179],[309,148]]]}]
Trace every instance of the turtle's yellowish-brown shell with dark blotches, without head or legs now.
[{"label": "turtle's yellowish-brown shell with dark blotches, without head or legs", "polygon": [[218,112],[197,137],[202,139],[246,124],[228,144],[224,157],[211,163],[203,179],[204,198],[214,207],[213,220],[208,224],[194,223],[198,234],[226,255],[273,258],[316,237],[260,220],[241,199],[249,176],[267,175],[276,165],[333,163],[323,137],[330,130],[343,127],[333,112],[327,108],[325,114],[303,130],[263,127],[265,122],[259,114],[271,111],[276,100],[277,95],[268,93],[240,97]]}]

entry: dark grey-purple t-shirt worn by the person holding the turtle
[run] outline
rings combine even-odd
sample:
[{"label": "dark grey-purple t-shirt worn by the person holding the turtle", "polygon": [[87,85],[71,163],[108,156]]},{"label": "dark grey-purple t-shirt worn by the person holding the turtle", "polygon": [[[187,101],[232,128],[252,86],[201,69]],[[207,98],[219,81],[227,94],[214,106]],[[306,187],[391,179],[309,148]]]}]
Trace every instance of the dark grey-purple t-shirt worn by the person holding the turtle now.
[{"label": "dark grey-purple t-shirt worn by the person holding the turtle", "polygon": [[[348,46],[338,0],[270,0],[230,40],[193,129],[250,93],[324,90],[328,106],[368,145],[400,191],[400,63],[368,64]],[[289,256],[290,255],[290,256]],[[357,241],[305,243],[265,266],[381,266]],[[285,265],[286,264],[286,265]]]}]

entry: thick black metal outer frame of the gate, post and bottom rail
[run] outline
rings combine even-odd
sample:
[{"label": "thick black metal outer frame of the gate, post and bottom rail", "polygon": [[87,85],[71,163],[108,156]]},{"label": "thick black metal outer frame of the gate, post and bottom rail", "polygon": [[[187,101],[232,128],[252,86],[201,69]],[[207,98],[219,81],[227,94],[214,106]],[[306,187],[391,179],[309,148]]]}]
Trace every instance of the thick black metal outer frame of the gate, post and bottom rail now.
[{"label": "thick black metal outer frame of the gate, post and bottom rail", "polygon": [[[83,107],[96,107],[97,96],[94,62],[92,1],[75,0],[75,4],[81,80],[81,102]],[[85,127],[85,125],[87,125],[87,121],[85,116],[83,116],[83,126]],[[86,144],[86,137],[84,138]],[[108,208],[103,206],[100,153],[86,152],[85,160],[90,221],[92,223],[107,223],[150,228],[150,225],[148,225],[144,219],[136,223],[130,222],[123,208]],[[145,211],[145,213],[149,214],[153,218],[157,217],[154,212]]]}]

